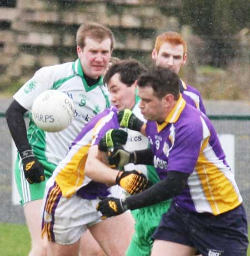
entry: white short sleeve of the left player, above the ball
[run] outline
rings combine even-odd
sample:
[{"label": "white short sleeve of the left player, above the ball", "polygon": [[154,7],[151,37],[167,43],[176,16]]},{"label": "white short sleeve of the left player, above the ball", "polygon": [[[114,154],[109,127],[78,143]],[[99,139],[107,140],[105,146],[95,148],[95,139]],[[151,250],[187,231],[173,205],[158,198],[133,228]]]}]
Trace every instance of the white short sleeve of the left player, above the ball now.
[{"label": "white short sleeve of the left player, above the ball", "polygon": [[31,110],[36,97],[53,86],[57,65],[42,67],[14,94],[13,98],[25,109]]}]

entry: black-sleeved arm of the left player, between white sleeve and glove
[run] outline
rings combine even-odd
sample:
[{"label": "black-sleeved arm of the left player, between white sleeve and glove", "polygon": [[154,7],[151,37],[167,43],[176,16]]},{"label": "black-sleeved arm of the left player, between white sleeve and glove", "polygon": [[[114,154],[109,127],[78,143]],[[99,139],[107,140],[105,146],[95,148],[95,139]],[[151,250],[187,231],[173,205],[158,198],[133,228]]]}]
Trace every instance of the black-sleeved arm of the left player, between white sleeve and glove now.
[{"label": "black-sleeved arm of the left player, between white sleeve and glove", "polygon": [[27,110],[15,100],[6,111],[6,121],[9,131],[19,152],[31,149],[27,139],[26,124],[24,121],[25,112]]}]

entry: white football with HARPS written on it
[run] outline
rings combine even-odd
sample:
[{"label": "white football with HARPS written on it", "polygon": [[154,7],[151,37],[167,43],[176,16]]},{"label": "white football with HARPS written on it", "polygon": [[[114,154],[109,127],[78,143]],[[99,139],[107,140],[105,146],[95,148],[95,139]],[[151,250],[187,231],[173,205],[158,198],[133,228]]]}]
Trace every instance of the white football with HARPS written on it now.
[{"label": "white football with HARPS written on it", "polygon": [[71,124],[74,118],[74,105],[66,93],[47,90],[34,100],[31,113],[39,128],[48,132],[58,132]]}]

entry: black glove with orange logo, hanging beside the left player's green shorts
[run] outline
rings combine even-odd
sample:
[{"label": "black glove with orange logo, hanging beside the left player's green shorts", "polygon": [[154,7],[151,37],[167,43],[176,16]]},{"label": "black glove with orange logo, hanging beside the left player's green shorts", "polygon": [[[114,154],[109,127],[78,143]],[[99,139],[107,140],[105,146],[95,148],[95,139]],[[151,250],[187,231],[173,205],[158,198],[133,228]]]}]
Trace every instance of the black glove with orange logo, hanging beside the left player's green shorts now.
[{"label": "black glove with orange logo, hanging beside the left player's green shorts", "polygon": [[41,183],[45,180],[43,165],[34,156],[32,150],[20,152],[23,163],[24,176],[28,183]]}]

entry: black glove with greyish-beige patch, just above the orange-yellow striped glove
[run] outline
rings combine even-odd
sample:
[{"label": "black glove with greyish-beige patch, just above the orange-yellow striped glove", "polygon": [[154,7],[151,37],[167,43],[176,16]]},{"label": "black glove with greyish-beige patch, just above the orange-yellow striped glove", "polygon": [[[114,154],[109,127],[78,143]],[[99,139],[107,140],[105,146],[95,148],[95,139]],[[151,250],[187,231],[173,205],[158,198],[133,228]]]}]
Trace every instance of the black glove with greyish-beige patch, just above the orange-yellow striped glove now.
[{"label": "black glove with greyish-beige patch, just above the orange-yellow striped glove", "polygon": [[109,153],[108,163],[112,166],[115,165],[116,168],[122,168],[129,163],[136,164],[134,151],[129,152],[124,150],[123,147],[115,147],[114,150]]}]

